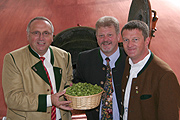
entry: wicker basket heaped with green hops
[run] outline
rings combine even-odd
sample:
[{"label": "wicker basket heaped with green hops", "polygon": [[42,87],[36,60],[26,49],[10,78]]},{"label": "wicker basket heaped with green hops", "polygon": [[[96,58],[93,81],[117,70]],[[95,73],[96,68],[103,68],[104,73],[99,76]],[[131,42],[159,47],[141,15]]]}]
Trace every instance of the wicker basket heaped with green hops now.
[{"label": "wicker basket heaped with green hops", "polygon": [[76,83],[66,89],[64,94],[70,103],[70,107],[75,110],[88,110],[99,106],[103,88],[97,84]]}]

